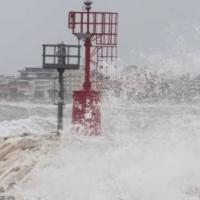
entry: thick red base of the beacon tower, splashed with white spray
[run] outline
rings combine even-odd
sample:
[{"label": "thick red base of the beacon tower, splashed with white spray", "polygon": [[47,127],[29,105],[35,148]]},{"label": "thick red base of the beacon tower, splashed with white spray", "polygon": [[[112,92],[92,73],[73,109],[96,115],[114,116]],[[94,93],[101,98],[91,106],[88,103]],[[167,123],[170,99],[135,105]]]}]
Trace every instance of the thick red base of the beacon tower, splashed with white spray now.
[{"label": "thick red base of the beacon tower, splashed with white spray", "polygon": [[95,90],[73,92],[72,131],[99,135],[101,132],[101,93]]}]

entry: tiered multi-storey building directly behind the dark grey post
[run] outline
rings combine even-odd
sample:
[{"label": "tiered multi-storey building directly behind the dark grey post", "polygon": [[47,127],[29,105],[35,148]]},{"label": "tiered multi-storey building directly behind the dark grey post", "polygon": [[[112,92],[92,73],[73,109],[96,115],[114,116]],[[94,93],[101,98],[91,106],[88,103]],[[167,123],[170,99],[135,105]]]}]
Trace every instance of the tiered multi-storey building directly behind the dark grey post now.
[{"label": "tiered multi-storey building directly behind the dark grey post", "polygon": [[[20,93],[27,97],[34,96],[35,98],[51,99],[53,96],[57,96],[59,88],[57,70],[35,67],[19,70],[19,73]],[[25,85],[25,83],[28,84]],[[81,89],[83,83],[83,67],[79,70],[66,70],[64,73],[65,100],[71,101],[73,91]]]}]

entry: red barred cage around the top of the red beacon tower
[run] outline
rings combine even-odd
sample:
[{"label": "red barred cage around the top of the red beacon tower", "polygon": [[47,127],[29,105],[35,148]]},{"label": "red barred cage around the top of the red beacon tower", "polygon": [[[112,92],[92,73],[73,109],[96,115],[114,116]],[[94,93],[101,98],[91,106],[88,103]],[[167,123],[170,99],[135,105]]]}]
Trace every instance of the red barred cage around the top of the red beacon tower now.
[{"label": "red barred cage around the top of the red beacon tower", "polygon": [[[87,32],[87,12],[70,12],[68,27],[73,34]],[[89,12],[89,32],[97,45],[117,45],[118,13]]]}]

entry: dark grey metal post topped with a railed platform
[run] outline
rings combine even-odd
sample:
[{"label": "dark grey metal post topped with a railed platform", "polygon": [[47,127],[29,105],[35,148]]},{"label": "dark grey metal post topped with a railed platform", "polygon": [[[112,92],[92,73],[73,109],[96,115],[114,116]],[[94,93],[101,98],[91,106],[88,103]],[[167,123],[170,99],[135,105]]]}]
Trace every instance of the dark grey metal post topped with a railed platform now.
[{"label": "dark grey metal post topped with a railed platform", "polygon": [[[43,68],[57,69],[58,84],[57,91],[58,101],[55,102],[55,91],[53,92],[53,101],[58,105],[57,116],[57,134],[63,129],[63,109],[64,109],[64,71],[69,69],[77,70],[80,68],[80,45],[44,44],[43,45]],[[75,50],[75,52],[73,51]],[[74,60],[75,59],[75,60]]]}]

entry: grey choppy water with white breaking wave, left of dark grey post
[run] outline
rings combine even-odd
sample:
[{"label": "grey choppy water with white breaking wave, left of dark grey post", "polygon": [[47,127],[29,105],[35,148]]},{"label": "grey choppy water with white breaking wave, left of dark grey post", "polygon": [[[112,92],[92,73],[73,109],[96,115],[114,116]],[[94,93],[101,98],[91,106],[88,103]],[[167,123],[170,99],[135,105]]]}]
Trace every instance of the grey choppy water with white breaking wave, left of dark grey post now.
[{"label": "grey choppy water with white breaking wave, left of dark grey post", "polygon": [[31,103],[0,103],[0,137],[56,130],[56,107]]}]

